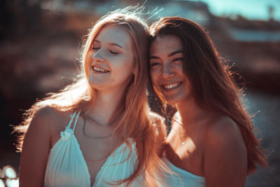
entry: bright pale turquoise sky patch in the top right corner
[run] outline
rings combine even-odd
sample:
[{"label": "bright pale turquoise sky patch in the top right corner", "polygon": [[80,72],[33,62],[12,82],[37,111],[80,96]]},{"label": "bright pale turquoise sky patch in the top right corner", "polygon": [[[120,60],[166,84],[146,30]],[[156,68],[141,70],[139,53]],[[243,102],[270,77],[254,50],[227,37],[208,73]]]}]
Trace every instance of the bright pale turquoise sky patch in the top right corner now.
[{"label": "bright pale turquoise sky patch in the top right corner", "polygon": [[[193,0],[200,1],[200,0]],[[268,6],[274,7],[274,19],[280,21],[280,0],[201,0],[214,15],[241,14],[251,20],[268,20]]]}]

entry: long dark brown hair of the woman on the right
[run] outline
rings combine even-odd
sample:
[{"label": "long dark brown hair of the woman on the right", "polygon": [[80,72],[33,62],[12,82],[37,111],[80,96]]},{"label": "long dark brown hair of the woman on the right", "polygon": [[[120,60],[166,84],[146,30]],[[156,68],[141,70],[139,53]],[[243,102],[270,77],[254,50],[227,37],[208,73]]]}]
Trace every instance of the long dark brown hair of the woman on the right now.
[{"label": "long dark brown hair of the woman on the right", "polygon": [[[241,103],[244,95],[232,78],[228,66],[223,64],[207,32],[188,19],[167,17],[151,25],[150,42],[157,36],[167,34],[178,36],[183,43],[183,71],[190,80],[197,104],[204,109],[223,113],[237,123],[246,144],[247,174],[257,169],[256,163],[267,167],[260,142],[253,133],[251,116]],[[154,90],[165,102],[160,92]]]}]

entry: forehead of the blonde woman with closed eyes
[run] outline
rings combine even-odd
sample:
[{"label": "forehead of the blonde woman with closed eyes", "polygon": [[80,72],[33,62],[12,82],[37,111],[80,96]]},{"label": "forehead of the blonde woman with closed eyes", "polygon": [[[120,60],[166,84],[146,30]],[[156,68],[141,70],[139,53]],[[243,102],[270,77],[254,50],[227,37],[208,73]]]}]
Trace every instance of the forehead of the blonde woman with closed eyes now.
[{"label": "forehead of the blonde woman with closed eyes", "polygon": [[101,29],[94,39],[101,43],[116,43],[124,48],[132,46],[132,39],[125,27],[120,25],[109,25]]}]

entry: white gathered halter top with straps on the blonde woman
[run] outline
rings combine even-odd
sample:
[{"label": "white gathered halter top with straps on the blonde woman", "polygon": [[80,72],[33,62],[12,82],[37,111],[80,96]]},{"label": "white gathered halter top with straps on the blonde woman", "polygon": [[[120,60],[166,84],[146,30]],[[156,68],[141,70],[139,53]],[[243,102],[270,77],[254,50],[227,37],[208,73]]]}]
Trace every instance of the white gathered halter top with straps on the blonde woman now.
[{"label": "white gathered halter top with straps on the blonde woman", "polygon": [[[66,129],[60,132],[60,139],[50,149],[44,186],[90,186],[90,172],[74,134],[79,114],[80,112],[73,113]],[[73,129],[71,129],[75,116]],[[126,143],[120,145],[109,155],[95,176],[93,186],[111,186],[108,183],[126,179],[134,172],[134,165],[137,163],[137,148],[133,139],[130,139],[130,142],[132,143],[131,155]],[[127,159],[128,155],[130,157]],[[144,174],[138,176],[132,181],[131,186],[144,186],[144,179]],[[126,186],[126,183],[120,186]]]}]

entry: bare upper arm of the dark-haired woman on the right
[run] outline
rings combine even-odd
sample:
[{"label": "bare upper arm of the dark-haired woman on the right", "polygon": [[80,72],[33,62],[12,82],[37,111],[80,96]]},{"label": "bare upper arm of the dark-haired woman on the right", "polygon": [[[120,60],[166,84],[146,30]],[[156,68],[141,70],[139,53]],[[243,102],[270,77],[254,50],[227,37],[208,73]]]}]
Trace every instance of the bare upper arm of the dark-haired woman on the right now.
[{"label": "bare upper arm of the dark-haired woman on the right", "polygon": [[247,154],[239,128],[230,118],[221,118],[207,131],[204,152],[206,186],[244,186]]}]

